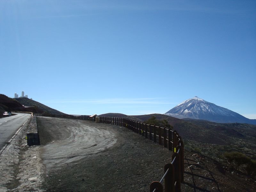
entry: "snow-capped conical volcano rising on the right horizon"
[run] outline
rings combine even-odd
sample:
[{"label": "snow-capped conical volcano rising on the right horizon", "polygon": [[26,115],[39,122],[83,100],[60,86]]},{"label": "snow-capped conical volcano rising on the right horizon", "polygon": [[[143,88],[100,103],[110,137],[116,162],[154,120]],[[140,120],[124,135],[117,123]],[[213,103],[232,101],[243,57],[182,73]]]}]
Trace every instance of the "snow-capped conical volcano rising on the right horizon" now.
[{"label": "snow-capped conical volcano rising on the right horizon", "polygon": [[210,103],[199,97],[185,100],[164,115],[176,118],[202,119],[217,123],[256,124],[255,119],[248,119],[234,111]]}]

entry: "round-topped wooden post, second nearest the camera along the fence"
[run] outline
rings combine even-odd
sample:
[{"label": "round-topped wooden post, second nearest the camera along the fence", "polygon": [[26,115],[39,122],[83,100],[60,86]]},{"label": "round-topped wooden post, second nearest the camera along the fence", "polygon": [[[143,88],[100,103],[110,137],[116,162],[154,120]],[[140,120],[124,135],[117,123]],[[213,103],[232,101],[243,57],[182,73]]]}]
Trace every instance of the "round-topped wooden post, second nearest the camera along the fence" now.
[{"label": "round-topped wooden post, second nearest the camera along the fence", "polygon": [[175,192],[175,181],[174,181],[174,166],[171,163],[164,165],[164,173],[169,169],[168,173],[164,178],[164,191]]}]

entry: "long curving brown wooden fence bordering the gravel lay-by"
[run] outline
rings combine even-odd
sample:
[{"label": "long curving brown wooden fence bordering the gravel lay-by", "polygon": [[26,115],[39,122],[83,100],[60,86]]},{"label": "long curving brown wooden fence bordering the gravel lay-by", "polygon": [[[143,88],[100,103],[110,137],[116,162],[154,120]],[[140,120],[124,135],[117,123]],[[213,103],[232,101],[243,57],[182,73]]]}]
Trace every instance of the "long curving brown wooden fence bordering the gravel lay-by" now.
[{"label": "long curving brown wooden fence bordering the gravel lay-by", "polygon": [[[145,124],[122,117],[105,117],[89,115],[56,115],[34,114],[35,116],[47,116],[58,118],[70,118],[96,121],[98,123],[113,124],[126,127],[145,138],[153,140],[164,148],[172,151],[172,162],[164,165],[164,176],[160,181],[150,184],[150,192],[180,192],[181,182],[184,181],[184,143],[176,131],[151,124]],[[164,186],[163,186],[164,181]]]}]

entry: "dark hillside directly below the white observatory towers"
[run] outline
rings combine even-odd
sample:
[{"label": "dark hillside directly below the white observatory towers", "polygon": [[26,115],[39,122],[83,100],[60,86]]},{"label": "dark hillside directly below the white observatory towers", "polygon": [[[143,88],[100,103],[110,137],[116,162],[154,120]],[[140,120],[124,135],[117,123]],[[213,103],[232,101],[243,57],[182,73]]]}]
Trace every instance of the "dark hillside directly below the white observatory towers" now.
[{"label": "dark hillside directly below the white observatory towers", "polygon": [[35,100],[31,100],[25,97],[15,98],[15,100],[19,101],[24,106],[36,107],[41,110],[42,113],[48,114],[64,114],[56,109],[50,108],[42,103],[39,103]]}]

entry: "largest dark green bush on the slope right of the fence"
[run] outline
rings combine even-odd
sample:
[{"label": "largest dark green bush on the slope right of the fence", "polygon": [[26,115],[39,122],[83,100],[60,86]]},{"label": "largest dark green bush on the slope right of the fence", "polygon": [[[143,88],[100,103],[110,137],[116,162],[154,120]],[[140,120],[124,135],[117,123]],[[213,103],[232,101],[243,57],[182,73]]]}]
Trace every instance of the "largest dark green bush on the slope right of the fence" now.
[{"label": "largest dark green bush on the slope right of the fence", "polygon": [[228,164],[236,170],[238,170],[241,165],[247,164],[251,161],[250,157],[239,152],[225,152],[223,156],[227,159]]}]

